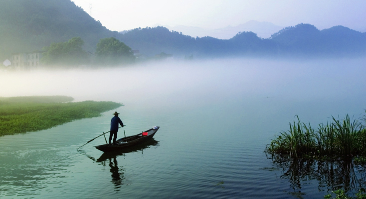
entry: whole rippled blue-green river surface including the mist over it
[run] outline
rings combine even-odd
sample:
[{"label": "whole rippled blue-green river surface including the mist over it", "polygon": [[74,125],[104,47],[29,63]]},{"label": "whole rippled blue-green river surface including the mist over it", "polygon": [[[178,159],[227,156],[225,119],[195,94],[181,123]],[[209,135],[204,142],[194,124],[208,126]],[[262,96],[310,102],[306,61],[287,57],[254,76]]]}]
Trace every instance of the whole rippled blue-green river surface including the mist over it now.
[{"label": "whole rippled blue-green river surface including the mist over it", "polygon": [[[345,186],[355,192],[365,187],[365,168],[352,167],[347,176],[338,163],[278,163],[264,150],[295,115],[314,127],[331,116],[363,117],[365,61],[226,59],[0,72],[2,97],[124,104],[100,117],[0,137],[0,198],[313,199]],[[105,143],[103,136],[77,151],[109,130],[114,111],[126,125],[119,137],[161,128],[129,152],[103,154],[93,147]]]}]

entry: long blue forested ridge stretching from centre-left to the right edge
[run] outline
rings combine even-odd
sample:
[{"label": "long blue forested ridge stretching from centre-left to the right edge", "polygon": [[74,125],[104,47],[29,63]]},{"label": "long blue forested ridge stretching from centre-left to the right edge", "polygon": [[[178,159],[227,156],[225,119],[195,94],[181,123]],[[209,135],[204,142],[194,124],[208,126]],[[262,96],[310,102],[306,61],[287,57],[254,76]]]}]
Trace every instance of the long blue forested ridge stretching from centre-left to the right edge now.
[{"label": "long blue forested ridge stretching from centre-left to the right edge", "polygon": [[134,49],[148,55],[171,54],[207,56],[365,56],[366,33],[344,26],[318,30],[298,24],[259,38],[253,32],[239,32],[231,39],[196,37],[169,31],[165,27],[136,28],[119,36]]}]

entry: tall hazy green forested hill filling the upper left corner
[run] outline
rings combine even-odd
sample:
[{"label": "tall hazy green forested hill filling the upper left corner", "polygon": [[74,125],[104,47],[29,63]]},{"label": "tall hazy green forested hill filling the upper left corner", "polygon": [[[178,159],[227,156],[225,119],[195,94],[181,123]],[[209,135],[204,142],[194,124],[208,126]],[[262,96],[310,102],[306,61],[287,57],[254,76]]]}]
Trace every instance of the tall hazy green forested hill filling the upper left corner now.
[{"label": "tall hazy green forested hill filling the upper left corner", "polygon": [[77,36],[85,50],[94,52],[100,38],[116,34],[70,0],[0,1],[0,58]]}]

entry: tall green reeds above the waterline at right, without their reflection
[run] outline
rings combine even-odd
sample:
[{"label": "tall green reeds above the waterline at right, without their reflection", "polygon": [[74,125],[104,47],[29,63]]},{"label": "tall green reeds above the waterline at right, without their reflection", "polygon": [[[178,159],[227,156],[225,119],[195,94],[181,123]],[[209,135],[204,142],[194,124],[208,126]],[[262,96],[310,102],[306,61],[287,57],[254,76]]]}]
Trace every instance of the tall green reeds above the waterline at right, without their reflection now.
[{"label": "tall green reeds above the waterline at right, without their reflection", "polygon": [[[343,120],[334,117],[331,123],[319,124],[314,129],[310,123],[290,123],[290,130],[280,133],[267,145],[272,155],[289,155],[322,160],[351,159],[366,157],[366,129],[362,122],[351,121],[346,115]],[[365,119],[365,118],[364,118]]]}]

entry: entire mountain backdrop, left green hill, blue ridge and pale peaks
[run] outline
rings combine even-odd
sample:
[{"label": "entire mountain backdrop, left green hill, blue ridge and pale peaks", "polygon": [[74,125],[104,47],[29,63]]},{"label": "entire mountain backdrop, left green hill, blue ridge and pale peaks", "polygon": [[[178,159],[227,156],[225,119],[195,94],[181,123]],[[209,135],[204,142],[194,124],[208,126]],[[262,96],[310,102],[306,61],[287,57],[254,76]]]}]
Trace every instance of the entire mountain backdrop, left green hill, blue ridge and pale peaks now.
[{"label": "entire mountain backdrop, left green hill, blue ridge and pale peaks", "polygon": [[[202,31],[202,35],[192,37],[183,31],[158,26],[121,34],[108,30],[70,0],[1,0],[0,61],[9,58],[11,53],[39,51],[53,42],[76,36],[84,40],[84,49],[91,53],[99,39],[115,37],[147,56],[161,52],[176,58],[366,55],[366,33],[344,26],[318,30],[311,24],[298,24],[281,29],[271,23],[249,21],[217,29],[217,35],[213,32],[203,36],[208,32],[197,28],[196,34]],[[272,36],[267,38],[269,34]]]}]

